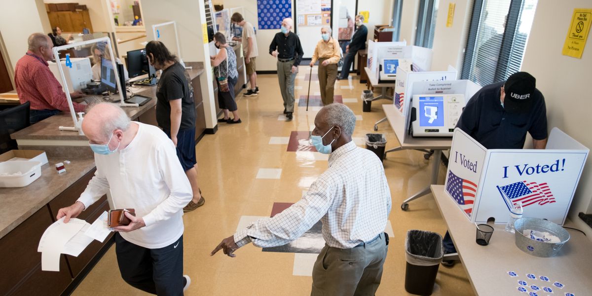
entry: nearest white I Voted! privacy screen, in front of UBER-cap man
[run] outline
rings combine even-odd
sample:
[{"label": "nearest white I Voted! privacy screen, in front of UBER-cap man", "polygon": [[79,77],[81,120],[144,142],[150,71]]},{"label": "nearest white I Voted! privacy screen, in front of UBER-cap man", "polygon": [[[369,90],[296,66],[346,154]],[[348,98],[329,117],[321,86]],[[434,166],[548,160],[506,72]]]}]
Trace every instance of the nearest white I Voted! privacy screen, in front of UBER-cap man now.
[{"label": "nearest white I Voted! privacy screen, in front of UBER-cap man", "polygon": [[545,150],[487,150],[456,128],[445,191],[471,222],[507,223],[522,202],[523,217],[562,225],[589,151],[556,127]]}]

